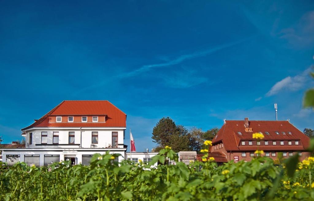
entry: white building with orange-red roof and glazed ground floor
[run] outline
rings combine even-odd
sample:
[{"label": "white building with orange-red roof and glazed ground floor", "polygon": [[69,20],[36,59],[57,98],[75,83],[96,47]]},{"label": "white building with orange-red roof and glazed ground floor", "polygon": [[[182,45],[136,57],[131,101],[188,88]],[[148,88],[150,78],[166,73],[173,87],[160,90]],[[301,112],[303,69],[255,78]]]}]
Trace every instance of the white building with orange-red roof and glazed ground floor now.
[{"label": "white building with orange-red roof and glazed ground floor", "polygon": [[[70,160],[89,164],[95,153],[125,157],[127,115],[107,100],[65,100],[22,129],[25,148],[3,148],[3,162],[44,166]],[[133,158],[133,156],[132,156]]]}]

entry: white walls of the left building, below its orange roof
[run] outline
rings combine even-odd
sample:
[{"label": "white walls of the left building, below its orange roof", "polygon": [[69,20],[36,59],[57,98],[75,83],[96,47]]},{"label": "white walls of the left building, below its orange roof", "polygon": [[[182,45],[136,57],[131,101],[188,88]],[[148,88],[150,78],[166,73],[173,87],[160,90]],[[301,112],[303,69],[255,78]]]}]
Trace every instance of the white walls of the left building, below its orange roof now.
[{"label": "white walls of the left building, below its orange roof", "polygon": [[[83,163],[93,154],[118,153],[118,161],[124,160],[127,148],[124,147],[124,136],[126,128],[107,127],[46,127],[30,128],[24,131],[25,148],[2,149],[3,162],[27,162],[38,166],[50,164],[52,161],[60,162],[71,160],[72,164]],[[47,137],[42,143],[42,132],[47,133]],[[58,132],[58,144],[53,143],[53,133]],[[74,143],[69,143],[69,132],[74,132]],[[97,132],[98,142],[92,143],[92,132]],[[112,135],[118,136],[117,147],[112,147]],[[30,137],[31,136],[31,137]],[[45,137],[44,137],[45,138]],[[32,142],[30,142],[30,139]],[[56,138],[57,139],[57,138]],[[18,157],[17,157],[18,156]],[[85,158],[85,160],[84,160]]]}]

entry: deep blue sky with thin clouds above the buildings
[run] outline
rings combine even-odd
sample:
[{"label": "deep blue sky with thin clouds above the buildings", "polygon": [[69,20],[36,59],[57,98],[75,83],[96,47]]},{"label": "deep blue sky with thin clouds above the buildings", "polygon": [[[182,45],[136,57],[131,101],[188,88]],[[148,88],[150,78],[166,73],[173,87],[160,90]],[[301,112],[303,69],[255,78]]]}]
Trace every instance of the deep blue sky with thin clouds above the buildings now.
[{"label": "deep blue sky with thin clouds above the buildings", "polygon": [[138,151],[164,116],[204,131],[224,119],[314,128],[312,1],[3,1],[0,135],[22,139],[62,100],[110,100]]}]

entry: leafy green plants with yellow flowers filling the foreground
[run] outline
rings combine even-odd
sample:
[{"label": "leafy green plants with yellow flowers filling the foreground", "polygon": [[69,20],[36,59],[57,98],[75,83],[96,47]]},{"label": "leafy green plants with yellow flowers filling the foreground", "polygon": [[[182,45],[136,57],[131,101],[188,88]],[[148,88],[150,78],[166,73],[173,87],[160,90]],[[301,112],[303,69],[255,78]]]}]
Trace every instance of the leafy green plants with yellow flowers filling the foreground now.
[{"label": "leafy green plants with yellow flowers filling the foreground", "polygon": [[[118,154],[95,154],[89,166],[69,162],[48,167],[16,163],[0,169],[1,200],[314,200],[313,160],[299,164],[293,178],[273,160],[217,166],[213,160],[177,165],[149,165],[166,157],[177,160],[171,147],[160,151],[150,164],[118,164]],[[56,166],[59,167],[56,167]],[[119,166],[120,165],[120,166]]]}]

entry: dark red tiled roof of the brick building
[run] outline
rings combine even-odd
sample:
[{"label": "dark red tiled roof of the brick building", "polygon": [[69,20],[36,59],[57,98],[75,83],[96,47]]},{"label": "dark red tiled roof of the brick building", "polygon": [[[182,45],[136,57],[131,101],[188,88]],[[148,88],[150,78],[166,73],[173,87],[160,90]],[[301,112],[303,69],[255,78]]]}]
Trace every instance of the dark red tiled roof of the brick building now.
[{"label": "dark red tiled roof of the brick building", "polygon": [[[245,131],[244,120],[226,120],[225,124],[214,137],[213,145],[222,141],[226,151],[256,150],[257,146],[239,146],[239,144],[241,140],[253,140],[253,133],[262,132],[264,135],[263,140],[301,141],[300,145],[297,146],[258,146],[260,149],[263,147],[263,150],[304,150],[309,146],[309,137],[293,126],[289,121],[249,121],[249,127],[252,128],[252,132]],[[279,135],[277,135],[275,131],[278,131]],[[241,132],[242,135],[239,135],[238,132]],[[269,135],[266,135],[265,132],[268,132]],[[282,132],[286,134],[284,135]],[[289,132],[292,134],[290,135]]]}]

